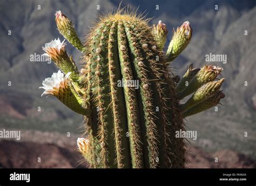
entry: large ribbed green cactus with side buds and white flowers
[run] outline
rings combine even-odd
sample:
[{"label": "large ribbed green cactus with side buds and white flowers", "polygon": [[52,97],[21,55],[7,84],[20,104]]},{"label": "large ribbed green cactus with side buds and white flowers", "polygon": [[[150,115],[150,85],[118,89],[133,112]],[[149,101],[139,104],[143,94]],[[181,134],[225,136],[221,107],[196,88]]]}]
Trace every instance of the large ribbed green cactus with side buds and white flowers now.
[{"label": "large ribbed green cactus with side buds and white flowers", "polygon": [[225,96],[220,91],[224,78],[214,81],[222,68],[191,65],[180,80],[172,74],[172,61],[191,40],[190,23],[173,32],[165,53],[166,25],[159,21],[150,27],[135,13],[100,18],[83,45],[61,11],[56,22],[83,53],[83,68],[79,71],[66,53],[64,41],[51,41],[43,47],[45,55],[66,75],[46,78],[41,88],[84,115],[86,134],[77,143],[91,168],[185,167],[186,142],[175,138],[176,131],[185,130],[185,117],[210,109]]}]

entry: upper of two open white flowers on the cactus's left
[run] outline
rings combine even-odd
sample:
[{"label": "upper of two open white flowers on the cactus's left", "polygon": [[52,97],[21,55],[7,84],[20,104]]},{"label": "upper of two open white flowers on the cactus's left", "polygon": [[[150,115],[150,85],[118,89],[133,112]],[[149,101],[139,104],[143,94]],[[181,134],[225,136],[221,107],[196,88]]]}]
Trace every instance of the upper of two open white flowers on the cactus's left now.
[{"label": "upper of two open white flowers on the cactus's left", "polygon": [[61,56],[66,52],[65,46],[65,39],[62,42],[59,40],[59,38],[52,40],[51,42],[46,43],[44,47],[42,47],[44,52],[46,52],[43,55],[49,56],[53,60],[57,60],[58,58],[61,58]]}]

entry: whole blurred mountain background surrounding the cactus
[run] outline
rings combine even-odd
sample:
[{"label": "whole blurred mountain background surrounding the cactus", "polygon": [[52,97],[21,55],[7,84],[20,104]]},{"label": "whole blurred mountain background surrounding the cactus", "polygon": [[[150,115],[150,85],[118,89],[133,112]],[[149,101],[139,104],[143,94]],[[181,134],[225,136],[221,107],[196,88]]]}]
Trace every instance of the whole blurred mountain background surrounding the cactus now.
[{"label": "whole blurred mountain background surrounding the cactus", "polygon": [[[56,29],[56,10],[73,21],[84,40],[98,15],[117,10],[119,3],[0,1],[0,131],[21,131],[21,140],[0,138],[0,167],[86,167],[76,146],[84,130],[83,117],[54,97],[41,97],[43,89],[38,87],[57,68],[53,62],[30,61],[30,56],[43,54],[42,46],[52,39],[63,40]],[[208,63],[224,68],[223,106],[186,118],[186,128],[197,131],[187,167],[256,168],[256,1],[130,0],[122,4],[138,8],[138,13],[145,11],[147,18],[152,17],[150,24],[162,20],[169,29],[167,43],[173,27],[190,22],[192,41],[172,64],[178,75],[190,63],[203,67],[206,54],[227,55],[225,64]],[[79,62],[79,51],[70,44],[67,51]]]}]

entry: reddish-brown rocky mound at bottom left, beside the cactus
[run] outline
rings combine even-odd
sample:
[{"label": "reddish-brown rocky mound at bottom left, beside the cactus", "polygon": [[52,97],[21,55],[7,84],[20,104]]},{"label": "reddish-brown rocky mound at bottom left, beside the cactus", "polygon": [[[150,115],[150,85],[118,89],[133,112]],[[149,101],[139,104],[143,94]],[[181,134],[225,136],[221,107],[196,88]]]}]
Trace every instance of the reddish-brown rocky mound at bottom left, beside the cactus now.
[{"label": "reddish-brown rocky mound at bottom left, beside the cactus", "polygon": [[0,148],[5,150],[0,152],[0,168],[86,168],[84,165],[78,166],[78,152],[68,147],[0,141]]}]

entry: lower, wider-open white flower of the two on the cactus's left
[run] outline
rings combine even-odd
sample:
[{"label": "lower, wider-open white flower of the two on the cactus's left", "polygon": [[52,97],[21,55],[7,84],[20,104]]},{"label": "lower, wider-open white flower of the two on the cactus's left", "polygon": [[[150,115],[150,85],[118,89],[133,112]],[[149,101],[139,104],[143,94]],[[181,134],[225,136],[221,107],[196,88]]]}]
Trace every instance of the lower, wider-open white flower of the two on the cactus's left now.
[{"label": "lower, wider-open white flower of the two on the cactus's left", "polygon": [[43,95],[58,95],[59,88],[65,88],[68,85],[68,77],[71,72],[67,73],[64,77],[64,74],[59,70],[57,73],[53,73],[51,77],[45,78],[43,81],[43,87],[39,89],[44,89]]}]

